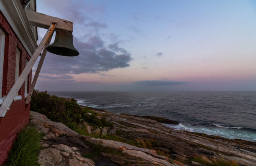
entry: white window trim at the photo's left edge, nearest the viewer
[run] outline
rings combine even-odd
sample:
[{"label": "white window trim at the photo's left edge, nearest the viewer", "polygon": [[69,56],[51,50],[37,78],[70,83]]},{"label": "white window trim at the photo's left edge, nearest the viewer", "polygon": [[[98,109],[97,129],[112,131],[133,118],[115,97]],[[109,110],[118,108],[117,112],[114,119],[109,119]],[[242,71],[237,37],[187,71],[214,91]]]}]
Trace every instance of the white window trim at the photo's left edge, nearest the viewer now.
[{"label": "white window trim at the photo's left edge, nearest the viewer", "polygon": [[5,56],[5,33],[0,29],[0,98],[2,97],[3,88],[3,61]]}]

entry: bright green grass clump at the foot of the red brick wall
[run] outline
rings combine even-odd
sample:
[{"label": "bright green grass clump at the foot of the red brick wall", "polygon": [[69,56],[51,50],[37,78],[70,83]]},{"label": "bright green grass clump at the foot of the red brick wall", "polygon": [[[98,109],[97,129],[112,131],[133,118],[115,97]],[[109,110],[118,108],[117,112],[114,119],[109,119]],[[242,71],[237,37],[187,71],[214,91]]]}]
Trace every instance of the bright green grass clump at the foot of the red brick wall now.
[{"label": "bright green grass clump at the foot of the red brick wall", "polygon": [[39,141],[42,135],[31,126],[17,134],[13,148],[8,155],[6,166],[37,166],[37,156],[41,148]]}]

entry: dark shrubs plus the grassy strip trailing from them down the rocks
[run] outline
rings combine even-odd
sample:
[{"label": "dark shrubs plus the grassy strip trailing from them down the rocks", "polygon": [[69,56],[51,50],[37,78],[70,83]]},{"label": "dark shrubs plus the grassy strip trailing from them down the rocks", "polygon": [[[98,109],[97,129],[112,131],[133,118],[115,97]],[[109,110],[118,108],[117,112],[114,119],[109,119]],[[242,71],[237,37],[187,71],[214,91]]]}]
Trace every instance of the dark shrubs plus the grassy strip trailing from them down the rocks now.
[{"label": "dark shrubs plus the grassy strip trailing from them down the rocks", "polygon": [[[145,141],[141,139],[125,139],[116,135],[101,136],[99,133],[89,134],[86,128],[82,125],[83,122],[87,122],[90,126],[95,128],[103,128],[113,126],[113,123],[106,120],[105,117],[97,118],[98,114],[89,108],[83,108],[77,104],[77,101],[73,98],[61,98],[55,95],[50,95],[47,91],[34,90],[31,97],[31,111],[35,111],[44,114],[51,121],[61,122],[84,136],[92,136],[95,138],[109,139],[113,141],[119,141],[128,143],[139,148],[154,149],[154,140]],[[89,113],[89,114],[87,114]],[[158,153],[161,151],[156,150]]]}]

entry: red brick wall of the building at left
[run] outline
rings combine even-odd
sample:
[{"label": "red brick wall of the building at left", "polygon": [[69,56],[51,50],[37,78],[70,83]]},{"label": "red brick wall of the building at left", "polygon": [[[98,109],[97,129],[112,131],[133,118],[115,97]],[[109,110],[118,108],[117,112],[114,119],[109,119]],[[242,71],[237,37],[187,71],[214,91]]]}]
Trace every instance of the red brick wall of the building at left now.
[{"label": "red brick wall of the building at left", "polygon": [[[26,58],[29,60],[30,56],[1,11],[0,28],[5,33],[2,96],[6,96],[15,83],[16,48],[20,50],[19,74],[21,74],[22,70],[25,68]],[[32,73],[30,72],[28,76],[28,89],[31,86],[31,75]],[[22,96],[22,100],[13,101],[10,106],[10,110],[8,110],[5,117],[0,118],[0,165],[2,165],[7,159],[8,151],[12,147],[17,132],[28,123],[30,117],[30,104],[25,104],[24,91],[25,83],[21,86],[19,91],[19,95]]]}]

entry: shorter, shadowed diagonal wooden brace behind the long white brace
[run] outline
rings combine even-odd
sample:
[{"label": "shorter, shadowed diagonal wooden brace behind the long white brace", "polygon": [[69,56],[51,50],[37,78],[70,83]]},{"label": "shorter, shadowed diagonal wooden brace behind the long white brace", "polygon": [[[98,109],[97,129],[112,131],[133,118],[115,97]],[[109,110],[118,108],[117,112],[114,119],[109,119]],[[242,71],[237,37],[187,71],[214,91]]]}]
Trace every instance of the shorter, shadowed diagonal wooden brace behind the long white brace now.
[{"label": "shorter, shadowed diagonal wooden brace behind the long white brace", "polygon": [[38,63],[38,66],[37,66],[37,68],[36,68],[36,73],[35,73],[35,75],[34,75],[34,78],[33,78],[32,84],[31,84],[31,88],[30,88],[29,91],[28,91],[28,96],[27,96],[27,98],[26,98],[26,104],[28,104],[28,103],[30,102],[30,100],[31,100],[31,96],[32,96],[33,90],[34,90],[34,88],[35,88],[35,86],[36,86],[36,81],[37,81],[38,75],[39,75],[39,73],[40,73],[40,70],[41,70],[42,65],[43,65],[43,63],[44,63],[45,55],[46,55],[46,53],[47,53],[46,47],[48,47],[48,45],[50,44],[52,35],[53,35],[53,33],[51,33],[51,36],[50,36],[49,40],[47,41],[46,45],[44,46],[44,50],[43,50],[43,53],[42,53],[42,55],[41,55],[40,61],[39,61],[39,63]]}]

